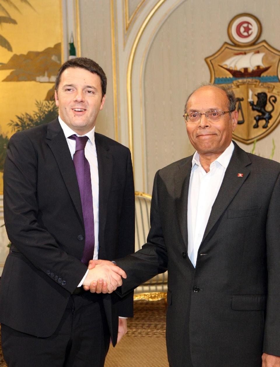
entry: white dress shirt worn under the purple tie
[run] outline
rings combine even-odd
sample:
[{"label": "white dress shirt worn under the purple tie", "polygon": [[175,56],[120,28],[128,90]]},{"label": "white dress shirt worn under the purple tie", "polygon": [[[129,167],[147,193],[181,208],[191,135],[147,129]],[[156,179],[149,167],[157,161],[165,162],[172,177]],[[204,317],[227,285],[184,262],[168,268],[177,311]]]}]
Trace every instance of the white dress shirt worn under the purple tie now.
[{"label": "white dress shirt worn under the purple tie", "polygon": [[[69,139],[71,135],[77,135],[77,136],[84,136],[84,135],[78,135],[75,131],[70,129],[68,125],[62,119],[60,116],[58,116],[58,120],[60,123],[60,126],[62,127],[62,130],[64,132],[67,144],[69,146],[69,150],[71,153],[71,157],[73,159],[73,155],[75,153],[76,149],[76,141],[73,139]],[[85,145],[85,157],[89,162],[89,167],[91,170],[91,188],[92,188],[92,204],[93,204],[93,216],[94,216],[94,238],[95,238],[95,246],[94,246],[94,255],[93,259],[98,258],[98,229],[99,229],[99,177],[98,177],[98,164],[97,164],[97,154],[96,154],[96,147],[95,147],[95,140],[94,140],[94,132],[95,127],[86,133],[85,135],[88,137],[88,141]],[[88,274],[88,271],[85,273],[85,276],[81,280],[78,287],[80,287]]]}]

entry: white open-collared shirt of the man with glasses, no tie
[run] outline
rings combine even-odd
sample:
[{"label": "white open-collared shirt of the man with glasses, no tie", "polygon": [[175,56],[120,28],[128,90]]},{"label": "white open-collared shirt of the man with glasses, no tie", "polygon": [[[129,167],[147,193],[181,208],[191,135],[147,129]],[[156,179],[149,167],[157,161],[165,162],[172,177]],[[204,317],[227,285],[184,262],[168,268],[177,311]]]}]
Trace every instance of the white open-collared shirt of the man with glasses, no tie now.
[{"label": "white open-collared shirt of the man with glasses, no tie", "polygon": [[211,209],[233,150],[234,145],[231,142],[228,148],[210,164],[210,170],[207,173],[200,164],[197,151],[192,159],[188,192],[188,256],[194,267]]}]

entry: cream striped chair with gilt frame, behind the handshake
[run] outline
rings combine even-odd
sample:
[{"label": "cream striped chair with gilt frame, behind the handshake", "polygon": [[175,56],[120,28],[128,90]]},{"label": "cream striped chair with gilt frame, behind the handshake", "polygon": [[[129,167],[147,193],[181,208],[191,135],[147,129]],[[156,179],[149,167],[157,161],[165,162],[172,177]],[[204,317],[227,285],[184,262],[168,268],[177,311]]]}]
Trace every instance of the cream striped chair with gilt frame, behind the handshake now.
[{"label": "cream striped chair with gilt frame, behind the handshake", "polygon": [[[135,192],[135,251],[147,241],[150,230],[151,195]],[[165,298],[167,292],[167,272],[156,275],[134,291],[135,299],[156,300]]]}]

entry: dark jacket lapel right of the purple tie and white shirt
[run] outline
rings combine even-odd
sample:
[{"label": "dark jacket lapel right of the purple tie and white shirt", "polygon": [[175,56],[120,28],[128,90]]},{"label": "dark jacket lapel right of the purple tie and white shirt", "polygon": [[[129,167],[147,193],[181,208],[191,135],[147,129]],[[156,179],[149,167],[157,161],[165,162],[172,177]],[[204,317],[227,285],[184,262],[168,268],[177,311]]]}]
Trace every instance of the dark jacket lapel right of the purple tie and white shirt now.
[{"label": "dark jacket lapel right of the purple tie and white shirt", "polygon": [[[98,163],[98,178],[99,178],[99,247],[100,251],[105,251],[104,248],[104,230],[107,218],[108,197],[112,183],[113,173],[113,157],[110,153],[110,148],[106,146],[99,134],[95,134],[95,146]],[[105,256],[102,252],[100,256]]]}]

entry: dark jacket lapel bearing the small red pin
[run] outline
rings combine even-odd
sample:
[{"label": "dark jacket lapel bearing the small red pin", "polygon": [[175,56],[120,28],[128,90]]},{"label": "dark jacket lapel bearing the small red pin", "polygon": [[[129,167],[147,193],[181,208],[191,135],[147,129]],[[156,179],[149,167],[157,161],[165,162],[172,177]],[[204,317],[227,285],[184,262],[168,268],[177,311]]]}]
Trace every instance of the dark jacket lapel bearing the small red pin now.
[{"label": "dark jacket lapel bearing the small red pin", "polygon": [[[239,148],[236,143],[234,143],[234,145],[235,148],[233,150],[229,165],[225,171],[221,188],[211,209],[202,243],[250,174],[250,170],[246,167],[251,164],[247,153]],[[243,176],[239,177],[239,173]]]}]

